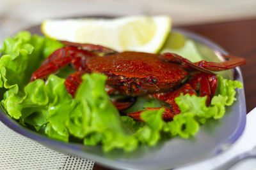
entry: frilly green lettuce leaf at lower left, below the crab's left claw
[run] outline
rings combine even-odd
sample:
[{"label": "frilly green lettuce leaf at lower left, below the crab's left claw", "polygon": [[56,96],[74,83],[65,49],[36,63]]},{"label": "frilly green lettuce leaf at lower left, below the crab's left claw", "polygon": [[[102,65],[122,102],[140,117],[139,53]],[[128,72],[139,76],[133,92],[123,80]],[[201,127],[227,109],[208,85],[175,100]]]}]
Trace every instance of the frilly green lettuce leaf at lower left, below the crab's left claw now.
[{"label": "frilly green lettuce leaf at lower left, below the crab's left claw", "polygon": [[[2,101],[8,114],[22,124],[33,125],[37,131],[45,125],[45,134],[54,139],[68,141],[66,122],[69,113],[77,111],[77,103],[68,94],[65,79],[50,75],[47,83],[36,80],[25,88],[25,95],[6,94]],[[81,111],[81,110],[79,110]]]}]

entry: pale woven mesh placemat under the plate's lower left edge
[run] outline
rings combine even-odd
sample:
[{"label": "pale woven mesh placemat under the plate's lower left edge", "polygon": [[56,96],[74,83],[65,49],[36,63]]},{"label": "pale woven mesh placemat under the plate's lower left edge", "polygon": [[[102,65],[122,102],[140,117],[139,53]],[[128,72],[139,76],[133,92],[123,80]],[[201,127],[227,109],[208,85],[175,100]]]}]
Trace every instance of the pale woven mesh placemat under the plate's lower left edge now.
[{"label": "pale woven mesh placemat under the plate's lower left edge", "polygon": [[93,169],[94,162],[63,153],[12,131],[0,122],[0,169]]}]

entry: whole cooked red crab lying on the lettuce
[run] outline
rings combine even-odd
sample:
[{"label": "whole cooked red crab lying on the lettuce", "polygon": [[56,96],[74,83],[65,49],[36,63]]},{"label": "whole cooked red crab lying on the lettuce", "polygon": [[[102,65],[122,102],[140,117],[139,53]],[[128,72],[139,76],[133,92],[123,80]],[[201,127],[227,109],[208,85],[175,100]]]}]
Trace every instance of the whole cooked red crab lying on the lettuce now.
[{"label": "whole cooked red crab lying on the lettuce", "polygon": [[[42,66],[31,76],[31,81],[47,78],[61,67],[71,64],[76,73],[70,74],[65,86],[72,96],[81,83],[84,73],[102,73],[108,76],[106,90],[111,93],[129,96],[154,97],[168,104],[164,106],[164,120],[180,113],[175,97],[180,93],[207,96],[209,105],[217,85],[216,74],[211,71],[223,71],[245,64],[245,59],[223,55],[224,62],[190,62],[175,53],[116,52],[100,45],[79,44],[62,41],[65,47],[53,52],[44,60]],[[124,110],[131,103],[113,104],[118,110]],[[159,108],[145,108],[157,110]],[[140,120],[141,111],[127,113],[129,117]]]}]

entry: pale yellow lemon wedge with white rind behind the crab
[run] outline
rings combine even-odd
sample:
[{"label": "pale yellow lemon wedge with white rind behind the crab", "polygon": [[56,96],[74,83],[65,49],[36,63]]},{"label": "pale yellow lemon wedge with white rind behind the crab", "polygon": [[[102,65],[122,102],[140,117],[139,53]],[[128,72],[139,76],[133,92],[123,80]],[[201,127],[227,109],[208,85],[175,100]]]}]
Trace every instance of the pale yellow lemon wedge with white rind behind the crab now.
[{"label": "pale yellow lemon wedge with white rind behind the crab", "polygon": [[45,20],[41,29],[45,36],[58,40],[92,43],[119,52],[156,53],[170,32],[171,18],[159,15]]}]

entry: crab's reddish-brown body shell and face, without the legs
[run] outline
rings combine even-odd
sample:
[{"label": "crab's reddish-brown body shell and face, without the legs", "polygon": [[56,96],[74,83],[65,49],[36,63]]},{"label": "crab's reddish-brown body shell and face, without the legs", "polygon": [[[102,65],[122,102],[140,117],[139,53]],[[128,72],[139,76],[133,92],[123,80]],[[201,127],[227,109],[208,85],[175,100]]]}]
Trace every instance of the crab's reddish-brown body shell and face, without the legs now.
[{"label": "crab's reddish-brown body shell and face, without the legs", "polygon": [[180,84],[188,72],[158,54],[122,52],[88,60],[92,72],[108,76],[107,84],[126,95],[167,92]]}]

